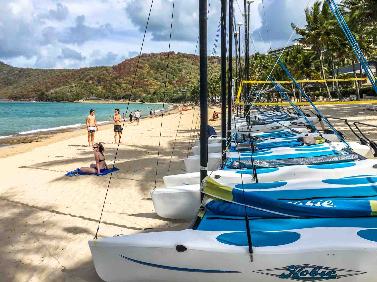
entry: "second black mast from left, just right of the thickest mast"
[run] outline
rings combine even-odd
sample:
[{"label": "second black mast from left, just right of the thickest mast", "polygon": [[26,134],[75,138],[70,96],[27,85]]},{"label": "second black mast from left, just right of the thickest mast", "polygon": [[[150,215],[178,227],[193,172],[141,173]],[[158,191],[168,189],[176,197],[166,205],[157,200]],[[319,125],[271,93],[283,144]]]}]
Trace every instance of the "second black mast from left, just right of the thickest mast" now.
[{"label": "second black mast from left, just right of the thickest mast", "polygon": [[222,161],[227,158],[224,154],[227,144],[227,38],[225,29],[227,24],[227,0],[221,0],[221,152]]}]

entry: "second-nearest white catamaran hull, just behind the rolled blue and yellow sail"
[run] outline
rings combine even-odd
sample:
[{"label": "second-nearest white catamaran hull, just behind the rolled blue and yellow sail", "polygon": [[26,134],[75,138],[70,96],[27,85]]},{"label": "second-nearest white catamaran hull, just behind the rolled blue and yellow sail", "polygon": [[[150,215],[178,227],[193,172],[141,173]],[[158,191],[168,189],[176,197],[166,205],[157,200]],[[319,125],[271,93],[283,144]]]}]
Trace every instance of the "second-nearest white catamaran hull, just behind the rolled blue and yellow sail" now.
[{"label": "second-nearest white catamaran hull, just behind the rolled blue and yellow sail", "polygon": [[[283,179],[290,181],[307,178],[341,178],[355,175],[375,176],[377,169],[373,166],[376,164],[377,161],[367,159],[346,164],[296,165],[257,170],[261,172],[257,173],[257,177],[259,183],[266,183]],[[233,185],[232,183],[246,184],[255,182],[252,170],[242,170],[242,174],[240,170],[208,171],[208,176],[227,186]],[[159,188],[150,192],[156,213],[165,218],[193,218],[200,206],[200,173],[165,176],[164,182],[166,188]],[[323,183],[318,186],[320,185],[326,187]]]}]

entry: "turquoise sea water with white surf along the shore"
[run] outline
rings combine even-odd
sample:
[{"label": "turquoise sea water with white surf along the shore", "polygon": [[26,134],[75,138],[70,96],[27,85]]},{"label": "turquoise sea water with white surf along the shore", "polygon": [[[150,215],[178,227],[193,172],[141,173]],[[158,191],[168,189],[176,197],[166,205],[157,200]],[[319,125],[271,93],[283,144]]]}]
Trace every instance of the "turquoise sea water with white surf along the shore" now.
[{"label": "turquoise sea water with white surf along the shore", "polygon": [[[170,105],[165,104],[165,109]],[[80,127],[86,124],[89,110],[95,110],[97,124],[110,121],[114,109],[126,112],[127,103],[37,103],[0,102],[0,138],[12,135],[32,134],[41,131]],[[160,113],[162,104],[130,104],[129,112],[139,109],[141,117],[149,115],[150,109]],[[126,120],[128,119],[126,115]]]}]

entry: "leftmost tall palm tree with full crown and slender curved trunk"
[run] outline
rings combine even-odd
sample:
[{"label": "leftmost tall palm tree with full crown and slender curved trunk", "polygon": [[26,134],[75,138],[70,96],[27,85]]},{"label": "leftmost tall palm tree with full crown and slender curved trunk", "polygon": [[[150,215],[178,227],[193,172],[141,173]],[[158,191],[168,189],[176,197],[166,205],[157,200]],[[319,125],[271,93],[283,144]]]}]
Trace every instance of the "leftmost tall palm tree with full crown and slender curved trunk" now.
[{"label": "leftmost tall palm tree with full crown and slender curved trunk", "polygon": [[[312,49],[317,53],[322,71],[322,79],[326,79],[325,68],[322,61],[322,50],[326,47],[326,42],[333,40],[333,24],[334,15],[328,3],[325,1],[322,5],[321,1],[314,2],[310,9],[305,10],[306,22],[305,27],[300,29],[294,23],[291,27],[296,29],[296,33],[301,38],[296,41],[312,45]],[[328,98],[331,98],[329,88],[326,84],[326,92]]]}]

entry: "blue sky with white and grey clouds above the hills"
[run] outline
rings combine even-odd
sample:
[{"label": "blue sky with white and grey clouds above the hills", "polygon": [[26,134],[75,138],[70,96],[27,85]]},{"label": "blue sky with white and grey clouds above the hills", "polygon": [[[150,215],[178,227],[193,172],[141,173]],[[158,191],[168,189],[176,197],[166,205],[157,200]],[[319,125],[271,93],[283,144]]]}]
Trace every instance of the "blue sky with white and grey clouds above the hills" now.
[{"label": "blue sky with white and grey clouds above the hills", "polygon": [[[0,0],[0,61],[29,68],[118,64],[140,52],[151,3],[152,0]],[[175,0],[170,50],[195,52],[198,3],[198,0]],[[268,33],[262,0],[251,4],[254,44],[250,52],[266,52],[268,38],[272,48],[284,46],[292,33],[291,21],[297,23],[307,3],[307,0],[264,0]],[[172,8],[172,0],[153,0],[142,53],[168,50]],[[237,21],[243,21],[243,2],[235,1],[234,8]],[[220,11],[220,1],[211,0],[209,55]]]}]

